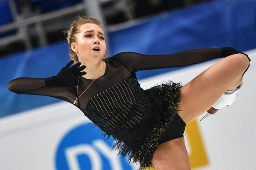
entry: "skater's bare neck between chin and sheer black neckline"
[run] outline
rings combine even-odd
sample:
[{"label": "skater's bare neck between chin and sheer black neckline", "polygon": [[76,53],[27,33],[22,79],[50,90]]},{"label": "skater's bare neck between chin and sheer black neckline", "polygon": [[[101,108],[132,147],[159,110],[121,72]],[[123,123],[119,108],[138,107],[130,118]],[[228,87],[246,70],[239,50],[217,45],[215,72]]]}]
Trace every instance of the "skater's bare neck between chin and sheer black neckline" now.
[{"label": "skater's bare neck between chin and sheer black neckline", "polygon": [[81,65],[85,65],[86,68],[83,71],[86,71],[86,75],[83,77],[86,79],[97,79],[104,75],[105,73],[105,62],[101,60],[99,63],[86,62]]}]

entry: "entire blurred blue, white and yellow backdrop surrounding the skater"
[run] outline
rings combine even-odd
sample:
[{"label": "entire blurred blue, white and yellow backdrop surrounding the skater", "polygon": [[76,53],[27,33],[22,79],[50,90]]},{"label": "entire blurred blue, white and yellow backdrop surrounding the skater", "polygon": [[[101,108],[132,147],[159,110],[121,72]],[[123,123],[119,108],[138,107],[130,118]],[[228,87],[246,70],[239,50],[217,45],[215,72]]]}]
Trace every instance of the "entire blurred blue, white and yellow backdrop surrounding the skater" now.
[{"label": "entire blurred blue, white and yellow backdrop surrounding the skater", "polygon": [[[137,170],[111,151],[112,139],[88,128],[90,121],[74,106],[7,89],[17,77],[59,72],[69,61],[66,31],[79,15],[101,21],[108,57],[223,46],[248,53],[252,61],[240,101],[209,120],[192,122],[185,135],[193,169],[256,168],[256,116],[251,114],[256,109],[256,0],[0,0],[0,169]],[[136,75],[142,88],[164,80],[184,85],[216,61]],[[227,125],[227,119],[233,123]]]}]

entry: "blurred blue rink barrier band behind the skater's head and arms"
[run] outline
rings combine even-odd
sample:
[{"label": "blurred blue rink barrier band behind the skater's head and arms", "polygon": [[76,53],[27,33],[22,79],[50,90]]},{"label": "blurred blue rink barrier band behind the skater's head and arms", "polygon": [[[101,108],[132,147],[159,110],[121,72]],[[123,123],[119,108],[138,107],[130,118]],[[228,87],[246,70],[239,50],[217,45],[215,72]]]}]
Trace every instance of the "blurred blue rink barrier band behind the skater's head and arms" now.
[{"label": "blurred blue rink barrier band behind the skater's head and arms", "polygon": [[[256,48],[256,1],[213,1],[155,15],[137,25],[109,33],[111,55],[123,51],[169,54],[180,50],[232,46],[238,50]],[[189,56],[188,56],[189,57]],[[17,77],[56,75],[68,62],[67,43],[20,52],[0,59],[0,117],[60,100],[10,92],[7,84]],[[181,68],[138,71],[138,79]]]}]

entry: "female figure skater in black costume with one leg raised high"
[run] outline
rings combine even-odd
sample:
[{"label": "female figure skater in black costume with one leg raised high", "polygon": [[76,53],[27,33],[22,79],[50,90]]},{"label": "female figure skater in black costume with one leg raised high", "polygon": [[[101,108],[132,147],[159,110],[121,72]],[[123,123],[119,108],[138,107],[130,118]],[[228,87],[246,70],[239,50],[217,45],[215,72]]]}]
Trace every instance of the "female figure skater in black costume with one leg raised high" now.
[{"label": "female figure skater in black costume with one leg raised high", "polygon": [[[74,20],[67,42],[71,61],[56,76],[21,77],[8,88],[18,94],[52,96],[78,107],[102,130],[104,138],[113,137],[113,149],[123,157],[128,155],[129,163],[139,163],[140,170],[151,166],[155,170],[190,170],[183,138],[186,124],[208,110],[213,113],[232,104],[250,61],[231,47],[168,55],[121,52],[105,58],[101,23],[87,17]],[[168,81],[143,90],[135,74],[221,57],[184,86]]]}]

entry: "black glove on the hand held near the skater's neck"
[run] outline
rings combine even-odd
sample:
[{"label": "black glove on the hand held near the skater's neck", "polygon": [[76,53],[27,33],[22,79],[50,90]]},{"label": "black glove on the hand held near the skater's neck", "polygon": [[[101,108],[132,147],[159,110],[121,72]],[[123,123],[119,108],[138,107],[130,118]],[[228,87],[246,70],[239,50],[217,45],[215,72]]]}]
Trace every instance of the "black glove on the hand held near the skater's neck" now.
[{"label": "black glove on the hand held near the skater's neck", "polygon": [[84,71],[81,72],[81,70],[85,69],[86,66],[83,65],[79,67],[81,65],[80,62],[71,66],[73,63],[74,63],[73,60],[67,63],[67,65],[61,69],[61,71],[57,74],[57,76],[46,78],[45,79],[46,87],[71,88],[71,87],[78,86],[79,84],[82,84],[83,83],[82,81],[78,81],[78,77],[86,74],[86,72]]}]

